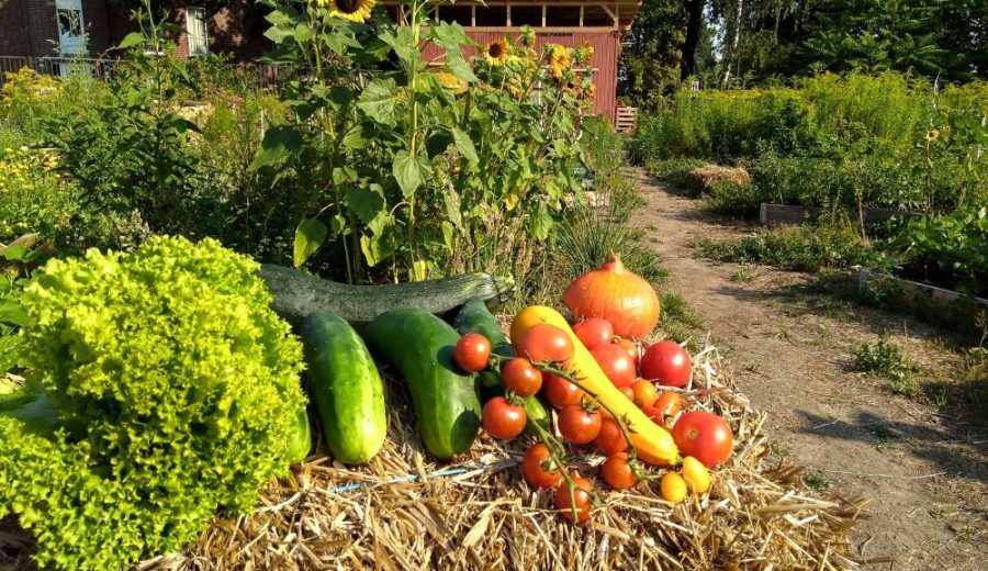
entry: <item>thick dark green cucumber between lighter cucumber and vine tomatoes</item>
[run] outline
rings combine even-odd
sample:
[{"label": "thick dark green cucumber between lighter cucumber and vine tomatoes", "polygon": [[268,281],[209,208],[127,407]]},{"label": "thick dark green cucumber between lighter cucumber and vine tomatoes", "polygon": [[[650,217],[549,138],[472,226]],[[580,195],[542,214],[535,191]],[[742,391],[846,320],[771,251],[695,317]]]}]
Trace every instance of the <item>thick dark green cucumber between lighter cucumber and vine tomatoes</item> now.
[{"label": "thick dark green cucumber between lighter cucumber and vine tomatoes", "polygon": [[430,313],[404,307],[375,317],[364,338],[405,378],[426,449],[441,460],[469,450],[481,426],[481,405],[473,377],[453,362],[456,329]]}]

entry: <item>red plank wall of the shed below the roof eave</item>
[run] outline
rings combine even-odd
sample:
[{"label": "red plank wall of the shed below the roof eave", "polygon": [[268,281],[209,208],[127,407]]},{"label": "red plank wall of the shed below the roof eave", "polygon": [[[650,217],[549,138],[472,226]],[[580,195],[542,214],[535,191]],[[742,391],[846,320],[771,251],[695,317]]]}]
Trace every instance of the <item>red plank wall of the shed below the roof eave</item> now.
[{"label": "red plank wall of the shed below the roof eave", "polygon": [[[592,29],[591,29],[592,30]],[[502,31],[480,31],[467,29],[467,35],[471,40],[484,46],[495,40],[504,37],[505,34],[517,37],[519,31],[517,29],[504,29]],[[600,32],[541,32],[536,31],[536,45],[539,51],[543,44],[560,44],[568,47],[580,47],[583,42],[590,42],[594,46],[594,83],[597,86],[597,96],[594,99],[593,112],[606,115],[614,122],[614,113],[617,98],[617,63],[620,53],[620,36],[617,31]],[[468,49],[464,54],[469,61],[472,56],[478,55],[475,49]],[[430,60],[440,56],[440,52],[436,46],[427,46],[423,56],[426,60]]]}]

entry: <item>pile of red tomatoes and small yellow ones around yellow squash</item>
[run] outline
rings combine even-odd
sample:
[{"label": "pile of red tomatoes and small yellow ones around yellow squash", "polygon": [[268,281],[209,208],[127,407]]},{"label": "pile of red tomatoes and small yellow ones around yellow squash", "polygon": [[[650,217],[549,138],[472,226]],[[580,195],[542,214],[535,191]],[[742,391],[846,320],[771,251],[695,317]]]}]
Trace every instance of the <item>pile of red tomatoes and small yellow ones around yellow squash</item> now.
[{"label": "pile of red tomatoes and small yellow ones around yellow squash", "polygon": [[[638,344],[617,338],[614,328],[602,318],[577,323],[573,332],[591,351],[610,382],[628,400],[660,426],[672,429],[673,438],[685,458],[682,475],[667,471],[660,484],[663,497],[682,502],[687,491],[704,493],[710,488],[708,467],[728,459],[731,432],[717,415],[691,411],[681,415],[683,400],[674,391],[660,394],[659,387],[685,387],[692,374],[689,355],[673,342],[659,342],[641,352]],[[654,479],[643,466],[629,456],[629,439],[615,418],[602,411],[570,379],[554,374],[546,363],[564,363],[574,354],[569,334],[550,324],[532,326],[516,343],[519,355],[503,363],[502,382],[505,396],[487,401],[483,408],[484,429],[494,438],[512,439],[526,427],[528,416],[524,399],[541,394],[557,411],[559,435],[574,445],[594,444],[607,459],[599,477],[614,490],[627,490],[642,479]],[[489,366],[491,344],[482,335],[467,334],[453,352],[457,363],[467,371]],[[557,370],[565,374],[563,371]],[[677,418],[678,416],[678,418]],[[544,440],[544,438],[543,438]],[[548,446],[547,446],[548,444]],[[528,449],[521,463],[525,481],[535,489],[554,490],[555,504],[563,517],[583,522],[590,517],[593,484],[576,473],[569,474],[570,485],[561,485],[561,450],[542,441]]]}]

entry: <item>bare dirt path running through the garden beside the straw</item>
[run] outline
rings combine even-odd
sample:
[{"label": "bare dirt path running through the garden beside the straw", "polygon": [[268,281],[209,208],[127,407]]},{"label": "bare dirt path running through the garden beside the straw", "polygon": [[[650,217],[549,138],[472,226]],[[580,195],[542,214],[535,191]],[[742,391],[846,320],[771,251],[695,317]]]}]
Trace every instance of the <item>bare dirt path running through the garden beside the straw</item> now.
[{"label": "bare dirt path running through the garden beside the straw", "polygon": [[850,369],[854,343],[883,333],[924,379],[952,379],[961,357],[936,331],[812,293],[807,275],[697,258],[696,239],[751,228],[633,175],[649,202],[635,222],[670,270],[666,287],[704,320],[741,389],[770,414],[778,454],[813,469],[820,489],[874,501],[855,536],[861,558],[894,559],[873,569],[985,569],[988,435],[950,406],[938,412]]}]

